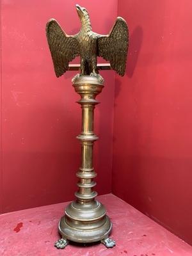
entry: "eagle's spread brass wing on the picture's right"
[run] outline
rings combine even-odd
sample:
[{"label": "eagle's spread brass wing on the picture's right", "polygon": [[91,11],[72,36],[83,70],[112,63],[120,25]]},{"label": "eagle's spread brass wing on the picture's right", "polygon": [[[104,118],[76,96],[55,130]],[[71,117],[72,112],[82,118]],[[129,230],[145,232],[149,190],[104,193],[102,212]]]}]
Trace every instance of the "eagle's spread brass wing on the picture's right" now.
[{"label": "eagle's spread brass wing on the picture's right", "polygon": [[125,74],[128,44],[127,23],[121,17],[117,17],[109,35],[100,35],[97,39],[97,55],[109,61],[120,76]]}]

